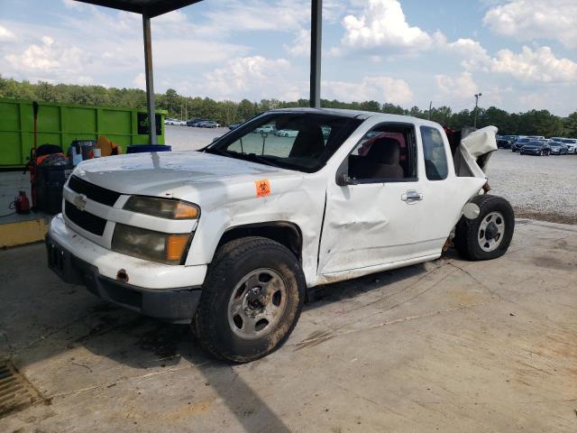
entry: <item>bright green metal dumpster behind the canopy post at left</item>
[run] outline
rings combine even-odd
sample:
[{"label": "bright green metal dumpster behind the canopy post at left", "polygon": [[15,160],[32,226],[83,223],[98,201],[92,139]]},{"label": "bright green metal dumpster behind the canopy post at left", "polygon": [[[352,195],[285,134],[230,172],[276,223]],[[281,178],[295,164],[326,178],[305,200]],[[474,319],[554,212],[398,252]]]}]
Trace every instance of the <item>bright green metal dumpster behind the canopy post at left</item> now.
[{"label": "bright green metal dumpster behind the canopy post at left", "polygon": [[[126,152],[130,144],[148,143],[145,109],[78,106],[39,102],[38,145],[58,144],[68,151],[73,140],[97,140],[105,135]],[[156,112],[158,143],[164,144],[164,116]],[[0,169],[23,167],[34,143],[32,101],[0,98]]]}]

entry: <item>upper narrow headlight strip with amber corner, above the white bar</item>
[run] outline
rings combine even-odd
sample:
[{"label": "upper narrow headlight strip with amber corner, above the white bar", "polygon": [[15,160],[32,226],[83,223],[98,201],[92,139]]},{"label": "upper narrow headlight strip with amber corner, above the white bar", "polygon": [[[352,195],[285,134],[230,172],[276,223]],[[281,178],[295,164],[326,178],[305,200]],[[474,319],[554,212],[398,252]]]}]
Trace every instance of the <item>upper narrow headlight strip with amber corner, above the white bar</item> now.
[{"label": "upper narrow headlight strip with amber corner, above the white bar", "polygon": [[124,204],[125,210],[139,214],[168,219],[197,219],[200,209],[197,205],[169,198],[133,196]]}]

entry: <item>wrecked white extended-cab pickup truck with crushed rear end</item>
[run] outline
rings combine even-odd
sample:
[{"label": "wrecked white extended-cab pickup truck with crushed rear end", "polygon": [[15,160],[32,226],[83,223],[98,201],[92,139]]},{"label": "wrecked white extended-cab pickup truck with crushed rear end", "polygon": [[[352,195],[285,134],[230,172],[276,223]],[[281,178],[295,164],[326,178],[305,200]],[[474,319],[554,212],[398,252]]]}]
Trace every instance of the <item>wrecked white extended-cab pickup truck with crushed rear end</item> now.
[{"label": "wrecked white extended-cab pickup truck with crushed rear end", "polygon": [[[253,133],[263,125],[298,134]],[[449,143],[413,117],[285,109],[198,152],[85,161],[50,224],[49,265],[251,361],[289,337],[307,288],[435,260],[451,241],[470,260],[505,253],[513,211],[483,191],[496,132]]]}]

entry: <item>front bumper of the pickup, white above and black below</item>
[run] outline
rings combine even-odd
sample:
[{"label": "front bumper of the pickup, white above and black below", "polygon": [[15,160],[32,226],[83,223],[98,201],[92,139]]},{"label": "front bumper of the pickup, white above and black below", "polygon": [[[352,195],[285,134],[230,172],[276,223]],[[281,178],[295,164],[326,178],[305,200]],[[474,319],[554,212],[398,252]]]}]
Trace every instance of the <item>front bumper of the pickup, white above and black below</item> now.
[{"label": "front bumper of the pickup, white above and black below", "polygon": [[[202,280],[200,280],[198,275],[196,283],[193,282],[191,285],[184,287],[150,288],[142,287],[140,284],[133,284],[131,283],[131,272],[142,269],[135,266],[131,267],[130,264],[134,264],[133,261],[143,263],[146,263],[146,261],[113,253],[88,241],[86,238],[82,238],[78,234],[69,231],[68,227],[64,226],[61,217],[59,217],[55,217],[52,220],[50,231],[46,235],[46,249],[48,265],[52,271],[60,276],[62,281],[85,285],[87,290],[102,299],[153,318],[160,318],[172,323],[190,323],[192,318],[194,318],[206,269],[199,272],[199,275],[202,274]],[[89,246],[90,248],[88,250],[74,248],[74,242],[81,242],[84,247]],[[99,259],[82,257],[82,255],[87,255],[87,253],[91,255],[96,253]],[[110,254],[113,254],[113,256],[111,257]],[[106,264],[108,264],[103,263],[103,260],[112,261],[114,266],[120,268],[122,264],[119,263],[123,263],[120,260],[121,258],[124,258],[125,262],[128,263],[128,266],[125,266],[125,269],[123,268],[123,271],[128,276],[128,281],[118,276],[112,278],[103,274],[104,272],[100,268],[105,268]],[[144,265],[143,263],[140,264]],[[160,276],[164,281],[171,280],[169,269],[165,268],[173,268],[173,272],[177,273],[175,280],[180,281],[182,276],[178,273],[183,272],[182,268],[186,267],[150,263],[148,271],[151,271],[151,274],[149,278],[157,281],[153,283],[154,285],[158,284]],[[197,266],[188,268],[197,268]],[[154,278],[154,273],[157,274],[156,278]],[[124,277],[124,275],[121,273],[120,277]]]}]

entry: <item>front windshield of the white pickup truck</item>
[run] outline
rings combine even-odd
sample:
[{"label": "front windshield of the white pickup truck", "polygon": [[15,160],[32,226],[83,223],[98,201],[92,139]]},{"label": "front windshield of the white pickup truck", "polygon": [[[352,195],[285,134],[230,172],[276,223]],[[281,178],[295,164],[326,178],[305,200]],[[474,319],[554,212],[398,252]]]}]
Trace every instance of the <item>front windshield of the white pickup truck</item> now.
[{"label": "front windshield of the white pickup truck", "polygon": [[341,115],[268,113],[224,135],[204,152],[313,172],[360,124],[360,119]]}]

